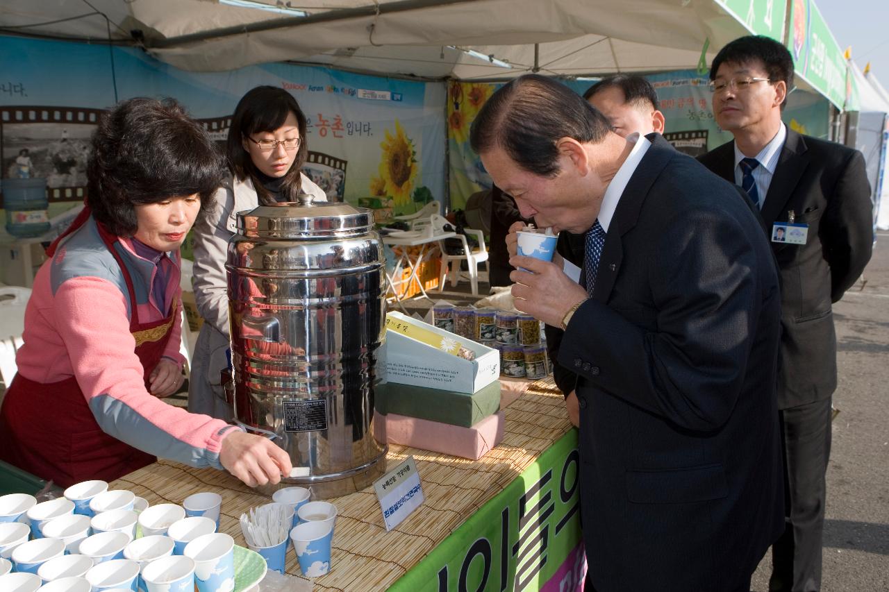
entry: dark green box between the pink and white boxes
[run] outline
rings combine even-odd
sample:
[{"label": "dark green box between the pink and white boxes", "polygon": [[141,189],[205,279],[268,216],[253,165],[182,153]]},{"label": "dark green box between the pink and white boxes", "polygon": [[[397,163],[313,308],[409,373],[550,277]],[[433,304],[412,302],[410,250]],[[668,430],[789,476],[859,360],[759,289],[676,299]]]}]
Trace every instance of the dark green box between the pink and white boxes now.
[{"label": "dark green box between the pink and white boxes", "polygon": [[501,384],[500,380],[494,380],[468,395],[452,390],[388,382],[376,387],[374,393],[373,406],[383,415],[397,413],[471,428],[500,410]]}]

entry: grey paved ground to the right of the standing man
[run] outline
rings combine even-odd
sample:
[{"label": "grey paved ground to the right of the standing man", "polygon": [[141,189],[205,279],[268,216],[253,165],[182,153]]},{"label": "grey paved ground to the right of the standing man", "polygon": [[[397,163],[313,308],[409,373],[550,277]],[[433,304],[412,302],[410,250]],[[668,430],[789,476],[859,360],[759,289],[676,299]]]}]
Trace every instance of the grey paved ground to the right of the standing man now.
[{"label": "grey paved ground to the right of the standing man", "polygon": [[[889,233],[834,307],[839,386],[828,467],[822,592],[889,591]],[[752,589],[765,592],[771,557]]]}]

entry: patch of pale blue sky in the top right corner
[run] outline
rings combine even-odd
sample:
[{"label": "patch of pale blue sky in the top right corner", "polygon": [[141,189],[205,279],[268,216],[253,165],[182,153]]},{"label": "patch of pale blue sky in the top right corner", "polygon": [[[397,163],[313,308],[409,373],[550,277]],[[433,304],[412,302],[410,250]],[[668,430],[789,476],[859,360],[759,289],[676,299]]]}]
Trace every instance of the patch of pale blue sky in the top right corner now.
[{"label": "patch of pale blue sky in the top right corner", "polygon": [[870,62],[879,81],[889,83],[889,2],[886,0],[816,0],[837,43],[852,45],[859,68]]}]

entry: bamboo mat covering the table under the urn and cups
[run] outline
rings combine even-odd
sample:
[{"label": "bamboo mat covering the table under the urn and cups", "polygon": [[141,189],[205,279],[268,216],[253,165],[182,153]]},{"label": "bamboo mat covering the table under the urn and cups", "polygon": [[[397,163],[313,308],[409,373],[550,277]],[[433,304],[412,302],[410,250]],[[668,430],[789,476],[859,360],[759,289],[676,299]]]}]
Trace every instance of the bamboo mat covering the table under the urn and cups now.
[{"label": "bamboo mat covering the table under the urn and cups", "polygon": [[[386,532],[372,487],[332,498],[339,516],[331,571],[314,580],[315,589],[387,589],[571,428],[563,396],[551,379],[530,384],[504,412],[503,442],[480,460],[389,444],[388,467],[412,455],[426,500],[393,531]],[[225,471],[191,468],[169,460],[140,468],[109,488],[131,490],[151,505],[181,504],[192,493],[218,492],[222,496],[220,532],[232,535],[242,546],[238,517],[271,501]],[[292,552],[288,552],[285,571],[301,577]]]}]

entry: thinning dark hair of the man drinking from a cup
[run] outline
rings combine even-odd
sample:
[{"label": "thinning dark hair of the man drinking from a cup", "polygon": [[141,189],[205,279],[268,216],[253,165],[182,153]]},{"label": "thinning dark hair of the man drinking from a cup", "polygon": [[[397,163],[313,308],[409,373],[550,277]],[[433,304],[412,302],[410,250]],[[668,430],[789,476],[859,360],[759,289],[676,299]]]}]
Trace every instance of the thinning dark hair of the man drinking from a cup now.
[{"label": "thinning dark hair of the man drinking from a cup", "polygon": [[555,177],[557,140],[599,142],[610,130],[605,116],[565,84],[528,74],[485,102],[472,122],[469,141],[479,154],[499,146],[525,171]]}]

